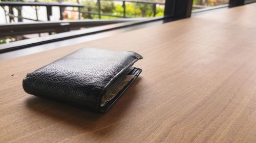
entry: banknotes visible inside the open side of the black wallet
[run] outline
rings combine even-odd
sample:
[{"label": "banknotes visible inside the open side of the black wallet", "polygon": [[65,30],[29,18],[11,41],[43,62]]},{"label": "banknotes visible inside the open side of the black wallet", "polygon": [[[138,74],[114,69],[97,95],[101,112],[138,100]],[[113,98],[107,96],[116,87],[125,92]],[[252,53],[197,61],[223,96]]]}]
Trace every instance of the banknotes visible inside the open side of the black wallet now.
[{"label": "banknotes visible inside the open side of the black wallet", "polygon": [[124,74],[114,82],[111,87],[106,91],[101,99],[100,106],[103,107],[106,103],[111,101],[118,93],[134,78],[133,67],[127,68]]}]

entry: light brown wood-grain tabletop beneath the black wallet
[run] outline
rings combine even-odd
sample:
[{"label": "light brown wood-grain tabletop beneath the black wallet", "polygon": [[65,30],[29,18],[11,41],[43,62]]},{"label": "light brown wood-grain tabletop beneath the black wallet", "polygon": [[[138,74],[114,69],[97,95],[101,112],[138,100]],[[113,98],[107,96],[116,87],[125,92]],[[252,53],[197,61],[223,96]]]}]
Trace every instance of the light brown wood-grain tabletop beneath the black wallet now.
[{"label": "light brown wood-grain tabletop beneath the black wallet", "polygon": [[[256,142],[256,4],[0,62],[0,142]],[[105,114],[22,79],[82,47],[132,50],[141,75]]]}]

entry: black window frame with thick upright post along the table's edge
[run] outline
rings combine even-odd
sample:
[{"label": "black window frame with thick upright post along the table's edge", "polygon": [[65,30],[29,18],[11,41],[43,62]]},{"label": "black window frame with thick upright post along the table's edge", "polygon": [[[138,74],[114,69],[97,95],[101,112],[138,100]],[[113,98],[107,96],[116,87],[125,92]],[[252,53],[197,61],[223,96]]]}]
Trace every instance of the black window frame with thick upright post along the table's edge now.
[{"label": "black window frame with thick upright post along the table's edge", "polygon": [[[207,10],[201,10],[201,11],[197,11],[196,13],[205,12],[213,9],[225,8],[225,7],[236,7],[244,4],[245,4],[245,0],[229,0],[228,5],[207,9]],[[0,45],[0,53],[32,47],[32,46],[41,45],[41,44],[47,44],[47,43],[61,41],[61,40],[70,39],[70,38],[76,38],[80,36],[86,36],[86,35],[91,35],[91,34],[111,31],[111,30],[117,30],[119,28],[143,24],[143,23],[150,23],[157,20],[174,21],[182,18],[188,18],[191,16],[191,13],[193,13],[192,7],[193,7],[193,0],[166,0],[163,17],[155,17],[155,18],[150,18],[145,20],[118,23],[118,24],[112,24],[109,26],[101,26],[100,28],[98,28],[98,30],[95,30],[95,29],[92,30],[92,28],[90,28],[88,30],[80,30],[79,32],[70,31],[70,32],[60,33],[60,34],[51,35],[47,37],[39,37],[34,39],[15,41],[15,42]],[[62,21],[60,21],[60,23],[61,22]]]}]

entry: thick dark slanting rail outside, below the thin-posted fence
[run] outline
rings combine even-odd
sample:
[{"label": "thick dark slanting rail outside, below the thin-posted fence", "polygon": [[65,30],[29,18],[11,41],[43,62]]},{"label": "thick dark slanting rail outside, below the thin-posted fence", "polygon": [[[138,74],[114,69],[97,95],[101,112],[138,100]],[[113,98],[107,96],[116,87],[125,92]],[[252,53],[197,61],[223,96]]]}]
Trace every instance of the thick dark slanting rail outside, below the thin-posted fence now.
[{"label": "thick dark slanting rail outside, below the thin-posted fence", "polygon": [[79,30],[81,27],[94,27],[107,24],[115,24],[122,22],[131,22],[146,20],[147,18],[125,18],[125,19],[108,19],[108,20],[63,20],[63,21],[45,21],[34,23],[10,23],[0,24],[0,37],[19,36],[35,33],[62,33],[72,30]]}]

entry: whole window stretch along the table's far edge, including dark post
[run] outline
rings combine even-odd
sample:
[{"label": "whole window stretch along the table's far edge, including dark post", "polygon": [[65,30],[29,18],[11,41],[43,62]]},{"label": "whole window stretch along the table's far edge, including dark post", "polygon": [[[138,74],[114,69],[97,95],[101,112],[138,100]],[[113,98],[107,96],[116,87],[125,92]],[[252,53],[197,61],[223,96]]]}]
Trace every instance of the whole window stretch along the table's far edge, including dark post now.
[{"label": "whole window stretch along the table's far edge, including dark post", "polygon": [[[244,0],[0,0],[0,44],[106,24],[126,23],[108,26],[111,30],[132,25],[134,21],[177,20],[190,17],[191,10],[200,12],[227,7],[228,4],[238,6],[244,4]],[[96,33],[96,30],[92,33]],[[70,35],[75,37],[84,33]],[[69,35],[65,38],[69,38]]]}]

